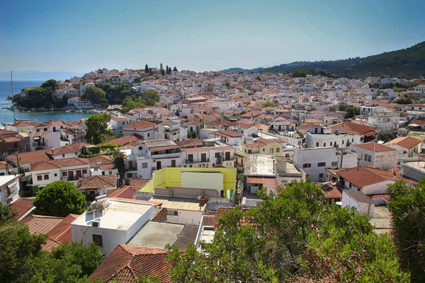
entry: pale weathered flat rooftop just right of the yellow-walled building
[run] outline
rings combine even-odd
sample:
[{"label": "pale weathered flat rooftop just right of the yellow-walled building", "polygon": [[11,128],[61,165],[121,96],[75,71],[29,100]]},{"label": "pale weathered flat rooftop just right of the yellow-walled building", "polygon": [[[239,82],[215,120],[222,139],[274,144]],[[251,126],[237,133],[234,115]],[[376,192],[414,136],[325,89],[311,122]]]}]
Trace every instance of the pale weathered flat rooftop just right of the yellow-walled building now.
[{"label": "pale weathered flat rooftop just right of the yellow-walled building", "polygon": [[274,176],[274,159],[267,154],[248,154],[244,175]]}]

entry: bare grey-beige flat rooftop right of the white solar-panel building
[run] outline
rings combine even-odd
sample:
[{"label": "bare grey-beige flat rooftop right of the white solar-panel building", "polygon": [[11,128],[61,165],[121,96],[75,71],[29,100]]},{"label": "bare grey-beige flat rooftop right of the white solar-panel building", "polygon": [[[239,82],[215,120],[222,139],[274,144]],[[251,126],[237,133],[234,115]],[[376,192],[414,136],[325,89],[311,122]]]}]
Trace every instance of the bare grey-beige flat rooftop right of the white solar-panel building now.
[{"label": "bare grey-beige flat rooftop right of the white solar-panel building", "polygon": [[184,224],[149,221],[127,244],[151,248],[172,246],[183,229]]}]

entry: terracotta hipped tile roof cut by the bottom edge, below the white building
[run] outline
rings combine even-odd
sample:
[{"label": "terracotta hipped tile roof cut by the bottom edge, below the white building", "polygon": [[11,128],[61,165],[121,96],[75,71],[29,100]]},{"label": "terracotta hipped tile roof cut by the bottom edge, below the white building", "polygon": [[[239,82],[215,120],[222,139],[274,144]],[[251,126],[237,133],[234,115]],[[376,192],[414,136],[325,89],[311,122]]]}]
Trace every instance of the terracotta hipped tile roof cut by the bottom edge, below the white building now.
[{"label": "terracotta hipped tile roof cut by the bottom edge, below the white building", "polygon": [[102,264],[90,275],[89,279],[101,279],[111,282],[137,282],[141,275],[159,275],[161,282],[171,282],[166,262],[168,250],[164,248],[147,248],[141,246],[116,246]]}]

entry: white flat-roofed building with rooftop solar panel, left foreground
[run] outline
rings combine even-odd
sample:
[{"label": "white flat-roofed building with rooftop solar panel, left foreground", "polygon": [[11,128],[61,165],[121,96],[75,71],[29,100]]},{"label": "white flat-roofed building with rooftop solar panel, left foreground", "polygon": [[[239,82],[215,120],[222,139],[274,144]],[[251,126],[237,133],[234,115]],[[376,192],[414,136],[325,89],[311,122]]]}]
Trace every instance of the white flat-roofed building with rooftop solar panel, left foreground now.
[{"label": "white flat-roofed building with rooftop solar panel, left foreground", "polygon": [[118,244],[128,243],[154,214],[153,204],[103,198],[72,222],[72,241],[85,246],[95,242],[108,255]]}]

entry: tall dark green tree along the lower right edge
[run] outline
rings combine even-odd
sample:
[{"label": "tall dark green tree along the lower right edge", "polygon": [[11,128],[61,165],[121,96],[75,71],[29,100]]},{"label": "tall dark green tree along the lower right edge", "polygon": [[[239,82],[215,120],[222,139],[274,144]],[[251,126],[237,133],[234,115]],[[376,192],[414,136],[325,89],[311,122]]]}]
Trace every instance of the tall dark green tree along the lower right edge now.
[{"label": "tall dark green tree along the lower right edge", "polygon": [[403,269],[412,282],[422,282],[425,274],[425,186],[424,179],[416,187],[402,181],[388,185],[391,199],[392,236]]}]

